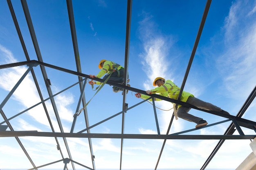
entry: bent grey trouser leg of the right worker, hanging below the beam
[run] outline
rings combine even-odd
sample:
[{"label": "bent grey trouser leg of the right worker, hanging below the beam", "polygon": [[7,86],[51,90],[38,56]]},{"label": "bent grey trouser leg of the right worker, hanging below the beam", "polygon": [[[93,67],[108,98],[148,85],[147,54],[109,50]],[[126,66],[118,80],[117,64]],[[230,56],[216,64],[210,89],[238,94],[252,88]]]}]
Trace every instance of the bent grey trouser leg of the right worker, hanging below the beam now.
[{"label": "bent grey trouser leg of the right worker, hanging below the beam", "polygon": [[184,120],[188,120],[190,122],[195,122],[196,124],[198,124],[198,122],[200,122],[200,120],[202,120],[202,118],[198,118],[196,116],[189,114],[188,112],[190,109],[191,109],[190,107],[181,106],[177,110],[177,116]]}]

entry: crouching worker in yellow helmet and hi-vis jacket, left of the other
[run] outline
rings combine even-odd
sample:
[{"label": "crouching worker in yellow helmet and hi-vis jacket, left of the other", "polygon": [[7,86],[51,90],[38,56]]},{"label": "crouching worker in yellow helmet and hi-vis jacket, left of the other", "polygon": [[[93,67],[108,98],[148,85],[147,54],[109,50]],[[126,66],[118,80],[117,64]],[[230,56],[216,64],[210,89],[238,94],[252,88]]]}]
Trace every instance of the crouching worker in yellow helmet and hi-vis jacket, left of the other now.
[{"label": "crouching worker in yellow helmet and hi-vis jacket, left of the other", "polygon": [[[124,67],[122,67],[121,65],[119,65],[117,63],[114,63],[112,61],[108,61],[108,60],[103,59],[99,62],[98,67],[99,67],[99,69],[101,69],[101,71],[96,76],[95,75],[89,75],[90,78],[94,78],[94,77],[101,78],[104,74],[107,73],[103,77],[103,80],[106,80],[108,78],[108,76],[110,76],[110,78],[108,79],[109,81],[112,81],[112,82],[115,82],[115,83],[118,83],[118,84],[124,84]],[[130,81],[130,79],[127,80],[127,83],[129,81]],[[89,81],[89,84],[90,85],[93,85],[93,84],[100,85],[101,82],[99,82],[99,81],[95,82],[95,81],[91,80],[91,81]],[[127,86],[130,87],[129,84],[127,84]],[[120,92],[120,91],[123,91],[123,89],[113,86],[113,92],[117,93],[117,92]],[[128,92],[128,90],[127,90],[127,92]]]}]

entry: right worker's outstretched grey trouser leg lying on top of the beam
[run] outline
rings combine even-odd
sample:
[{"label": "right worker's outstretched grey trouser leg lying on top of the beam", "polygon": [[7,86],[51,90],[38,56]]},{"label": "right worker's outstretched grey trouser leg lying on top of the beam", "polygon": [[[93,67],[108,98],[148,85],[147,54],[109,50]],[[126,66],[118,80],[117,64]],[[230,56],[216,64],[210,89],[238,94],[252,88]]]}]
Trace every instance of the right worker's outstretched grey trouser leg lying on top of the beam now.
[{"label": "right worker's outstretched grey trouser leg lying on top of the beam", "polygon": [[190,96],[186,101],[187,103],[204,110],[222,111],[220,107],[217,107],[209,102],[204,102],[198,98]]}]

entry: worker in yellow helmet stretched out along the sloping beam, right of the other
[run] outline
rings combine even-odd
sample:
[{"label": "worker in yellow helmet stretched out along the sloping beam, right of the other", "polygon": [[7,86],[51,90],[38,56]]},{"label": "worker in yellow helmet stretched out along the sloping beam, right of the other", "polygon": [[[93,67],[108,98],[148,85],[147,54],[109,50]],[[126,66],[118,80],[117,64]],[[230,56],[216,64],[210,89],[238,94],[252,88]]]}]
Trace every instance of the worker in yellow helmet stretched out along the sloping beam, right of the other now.
[{"label": "worker in yellow helmet stretched out along the sloping beam, right of the other", "polygon": [[[155,78],[154,82],[153,82],[153,86],[158,86],[155,89],[151,89],[151,90],[147,90],[146,93],[147,94],[159,94],[161,96],[165,96],[165,97],[169,97],[169,98],[173,98],[175,100],[177,100],[179,92],[180,92],[180,87],[177,87],[177,85],[175,85],[171,80],[166,80],[162,77],[157,77]],[[147,99],[150,96],[144,95],[144,94],[140,94],[137,93],[135,94],[135,96],[137,98],[143,98],[143,99]],[[161,100],[161,99],[156,99],[156,100]],[[224,114],[229,114],[227,111],[224,111],[222,109],[220,109],[220,107],[217,107],[215,105],[212,105],[209,102],[204,102],[198,98],[195,98],[193,96],[193,94],[190,94],[189,92],[182,92],[180,101],[182,102],[187,102],[195,107],[198,107],[200,109],[204,109],[204,110],[209,110],[209,111],[218,111]],[[175,107],[175,105],[174,105]],[[191,114],[189,114],[189,110],[191,108],[190,107],[185,107],[182,105],[178,105],[177,110],[176,110],[176,114],[177,117],[182,118],[184,120],[188,120],[190,122],[195,122],[197,125],[195,126],[195,128],[199,128],[201,126],[205,126],[207,125],[207,121],[203,120],[202,118],[198,118],[196,116],[193,116]]]}]

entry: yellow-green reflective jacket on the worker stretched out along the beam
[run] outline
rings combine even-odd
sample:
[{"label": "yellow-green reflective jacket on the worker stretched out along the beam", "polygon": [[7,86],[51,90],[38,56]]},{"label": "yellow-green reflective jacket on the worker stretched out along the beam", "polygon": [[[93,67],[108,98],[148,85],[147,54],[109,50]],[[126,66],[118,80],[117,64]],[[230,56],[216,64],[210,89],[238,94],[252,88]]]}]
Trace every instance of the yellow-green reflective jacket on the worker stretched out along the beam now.
[{"label": "yellow-green reflective jacket on the worker stretched out along the beam", "polygon": [[[180,93],[180,87],[178,87],[177,85],[175,85],[173,83],[173,81],[171,80],[166,80],[164,85],[160,86],[160,87],[156,87],[155,89],[151,89],[150,90],[152,92],[152,94],[159,94],[161,96],[165,96],[168,98],[173,98],[175,100],[177,100],[179,93]],[[180,97],[180,101],[182,102],[186,102],[186,100],[188,100],[189,96],[193,96],[193,94],[189,93],[189,92],[184,92],[182,91],[182,95]],[[150,96],[141,94],[141,98],[146,99],[149,98]],[[156,98],[156,100],[161,100]],[[151,100],[152,101],[152,100]],[[181,105],[178,105],[178,108],[181,107]]]}]

